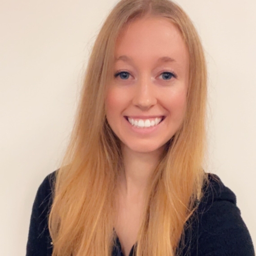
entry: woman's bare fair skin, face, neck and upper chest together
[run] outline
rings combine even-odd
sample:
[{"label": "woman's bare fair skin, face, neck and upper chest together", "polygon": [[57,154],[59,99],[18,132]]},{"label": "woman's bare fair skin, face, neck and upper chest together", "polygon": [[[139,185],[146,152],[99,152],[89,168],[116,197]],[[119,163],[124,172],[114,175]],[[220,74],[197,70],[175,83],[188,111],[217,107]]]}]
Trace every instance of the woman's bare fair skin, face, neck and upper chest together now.
[{"label": "woman's bare fair skin, face, neck and upper chest together", "polygon": [[120,33],[105,104],[108,123],[122,142],[125,171],[115,231],[126,256],[136,242],[150,175],[182,125],[188,73],[186,45],[167,18],[136,19]]}]

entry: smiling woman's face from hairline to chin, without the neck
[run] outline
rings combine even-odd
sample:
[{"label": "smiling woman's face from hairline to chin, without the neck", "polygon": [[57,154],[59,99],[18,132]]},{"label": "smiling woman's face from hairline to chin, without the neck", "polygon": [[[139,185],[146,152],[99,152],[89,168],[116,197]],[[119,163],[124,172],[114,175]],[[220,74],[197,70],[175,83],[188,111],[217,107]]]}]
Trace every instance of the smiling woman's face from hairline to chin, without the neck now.
[{"label": "smiling woman's face from hairline to chin, without the neck", "polygon": [[115,46],[106,116],[124,147],[161,150],[186,111],[189,55],[181,33],[167,18],[137,19]]}]

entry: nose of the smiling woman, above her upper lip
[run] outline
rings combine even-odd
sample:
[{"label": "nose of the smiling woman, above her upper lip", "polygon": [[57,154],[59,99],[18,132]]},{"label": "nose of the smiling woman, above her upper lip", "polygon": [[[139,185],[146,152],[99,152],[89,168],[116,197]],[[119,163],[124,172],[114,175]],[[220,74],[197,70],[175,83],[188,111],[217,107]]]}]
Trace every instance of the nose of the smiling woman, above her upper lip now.
[{"label": "nose of the smiling woman, above her upper lip", "polygon": [[150,78],[141,78],[136,83],[133,97],[133,105],[141,110],[148,110],[157,103],[154,85]]}]

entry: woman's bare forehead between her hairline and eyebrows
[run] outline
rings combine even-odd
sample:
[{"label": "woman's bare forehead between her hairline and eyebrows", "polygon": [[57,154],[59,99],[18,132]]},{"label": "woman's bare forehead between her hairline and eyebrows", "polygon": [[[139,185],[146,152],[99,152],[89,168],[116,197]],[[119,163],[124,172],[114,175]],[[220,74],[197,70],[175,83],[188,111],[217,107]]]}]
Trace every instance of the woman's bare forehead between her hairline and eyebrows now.
[{"label": "woman's bare forehead between her hairline and eyebrows", "polygon": [[147,61],[187,61],[188,53],[180,30],[165,17],[139,18],[121,30],[115,45],[115,61],[125,58]]}]

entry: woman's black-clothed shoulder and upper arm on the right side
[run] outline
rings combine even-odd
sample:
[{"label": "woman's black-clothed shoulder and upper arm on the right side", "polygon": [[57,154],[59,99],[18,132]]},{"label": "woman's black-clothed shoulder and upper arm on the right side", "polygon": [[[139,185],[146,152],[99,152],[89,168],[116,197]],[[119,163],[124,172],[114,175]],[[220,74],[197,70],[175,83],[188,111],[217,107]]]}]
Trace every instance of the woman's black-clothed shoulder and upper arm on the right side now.
[{"label": "woman's black-clothed shoulder and upper arm on the right side", "polygon": [[195,214],[197,241],[192,255],[255,255],[234,192],[215,174],[208,173],[208,180]]}]

